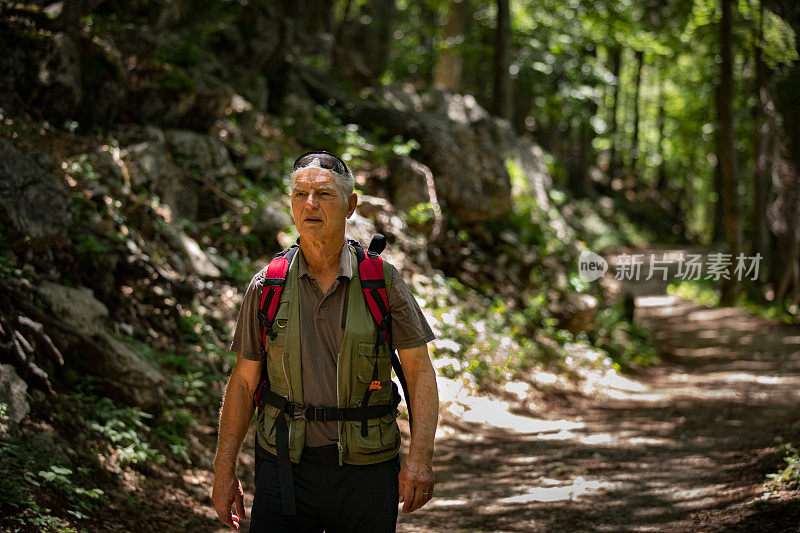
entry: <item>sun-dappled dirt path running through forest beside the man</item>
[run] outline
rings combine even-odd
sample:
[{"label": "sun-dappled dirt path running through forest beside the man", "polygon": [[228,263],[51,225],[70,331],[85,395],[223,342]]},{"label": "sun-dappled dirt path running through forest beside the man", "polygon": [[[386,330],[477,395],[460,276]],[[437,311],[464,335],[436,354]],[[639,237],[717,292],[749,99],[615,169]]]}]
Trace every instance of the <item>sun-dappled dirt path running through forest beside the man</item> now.
[{"label": "sun-dappled dirt path running through forest beside the man", "polygon": [[435,498],[398,531],[800,531],[800,495],[763,502],[768,523],[738,508],[800,418],[800,327],[626,285],[662,364],[604,397],[445,416]]}]

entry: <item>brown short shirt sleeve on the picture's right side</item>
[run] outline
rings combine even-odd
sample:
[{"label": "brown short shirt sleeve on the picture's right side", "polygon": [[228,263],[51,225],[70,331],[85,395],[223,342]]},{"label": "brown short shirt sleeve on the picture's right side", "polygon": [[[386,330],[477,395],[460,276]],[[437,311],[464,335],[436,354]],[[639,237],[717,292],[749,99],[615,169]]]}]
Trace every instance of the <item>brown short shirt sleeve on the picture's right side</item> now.
[{"label": "brown short shirt sleeve on the picture's right side", "polygon": [[392,313],[392,345],[396,349],[416,348],[435,338],[417,300],[392,266],[392,286],[389,291]]}]

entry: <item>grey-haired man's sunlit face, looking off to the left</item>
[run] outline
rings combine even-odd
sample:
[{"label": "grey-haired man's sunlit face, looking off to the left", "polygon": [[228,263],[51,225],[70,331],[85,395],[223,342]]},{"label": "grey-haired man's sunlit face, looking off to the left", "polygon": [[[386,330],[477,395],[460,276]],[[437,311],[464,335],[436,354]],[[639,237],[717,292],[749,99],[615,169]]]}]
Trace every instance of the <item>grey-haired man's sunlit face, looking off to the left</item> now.
[{"label": "grey-haired man's sunlit face, looking off to the left", "polygon": [[357,196],[344,198],[330,172],[302,170],[291,191],[292,216],[300,237],[335,239],[344,235],[344,224],[356,207]]}]

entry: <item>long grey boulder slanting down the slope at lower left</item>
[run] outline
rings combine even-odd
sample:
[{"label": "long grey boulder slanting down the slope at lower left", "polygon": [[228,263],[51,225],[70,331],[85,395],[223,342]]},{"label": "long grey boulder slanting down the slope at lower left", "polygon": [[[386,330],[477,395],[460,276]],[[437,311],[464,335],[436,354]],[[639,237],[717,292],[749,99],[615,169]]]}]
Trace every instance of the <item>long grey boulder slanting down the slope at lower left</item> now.
[{"label": "long grey boulder slanting down the slope at lower left", "polygon": [[68,367],[103,378],[105,394],[127,404],[147,410],[163,404],[166,379],[108,331],[108,309],[90,289],[44,281],[39,296],[49,304],[52,316],[67,326],[69,332],[54,332],[53,341]]}]

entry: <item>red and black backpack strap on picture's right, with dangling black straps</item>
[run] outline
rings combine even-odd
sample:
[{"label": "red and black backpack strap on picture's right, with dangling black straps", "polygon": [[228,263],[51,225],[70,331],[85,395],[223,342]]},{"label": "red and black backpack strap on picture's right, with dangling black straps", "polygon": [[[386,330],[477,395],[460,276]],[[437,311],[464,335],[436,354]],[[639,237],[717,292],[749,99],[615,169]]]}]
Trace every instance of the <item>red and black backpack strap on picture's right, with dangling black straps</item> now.
[{"label": "red and black backpack strap on picture's right, with dangling black straps", "polygon": [[[377,328],[377,335],[375,336],[375,347],[373,353],[375,354],[375,364],[372,367],[372,381],[364,392],[364,399],[361,405],[369,405],[369,398],[373,391],[381,389],[381,382],[378,376],[378,350],[384,344],[389,351],[392,368],[397,379],[400,380],[400,385],[403,388],[403,396],[406,400],[406,407],[408,408],[408,422],[409,430],[412,427],[411,418],[411,401],[408,395],[408,384],[406,377],[403,373],[403,367],[400,364],[400,359],[397,357],[392,347],[392,315],[389,310],[389,293],[386,288],[386,278],[384,277],[383,259],[380,253],[386,248],[386,238],[380,233],[376,234],[370,242],[369,249],[365,252],[364,248],[358,241],[349,240],[356,252],[358,259],[358,277],[361,281],[361,289],[364,292],[364,299],[367,302],[367,307],[372,315]],[[396,385],[392,383],[394,389]],[[396,394],[396,391],[394,391]],[[399,395],[398,395],[399,396]],[[368,435],[367,419],[361,420],[361,436]]]}]

